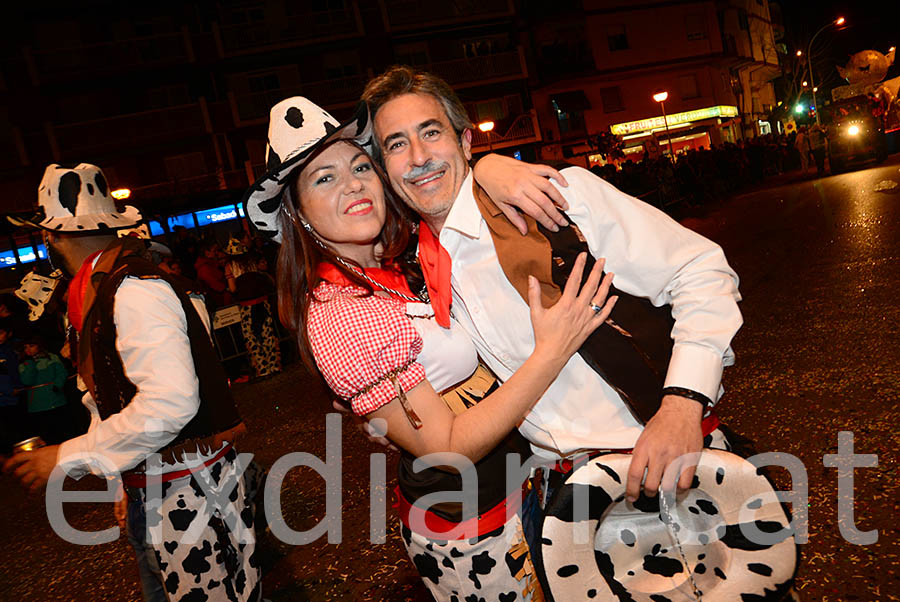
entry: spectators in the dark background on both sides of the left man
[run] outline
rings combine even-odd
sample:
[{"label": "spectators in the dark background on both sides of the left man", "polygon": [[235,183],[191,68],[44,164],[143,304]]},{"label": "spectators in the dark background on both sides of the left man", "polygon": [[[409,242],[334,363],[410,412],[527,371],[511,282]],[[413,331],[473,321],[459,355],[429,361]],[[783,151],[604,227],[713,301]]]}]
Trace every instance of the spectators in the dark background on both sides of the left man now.
[{"label": "spectators in the dark background on both sides of the left man", "polygon": [[[232,236],[223,245],[212,232],[200,238],[184,228],[176,228],[169,242],[171,248],[151,247],[151,256],[186,289],[203,296],[210,316],[228,305],[239,308],[247,354],[230,367],[231,376],[247,380],[279,372],[271,298],[277,248],[249,234]],[[87,430],[62,307],[49,304],[30,321],[25,301],[12,293],[0,295],[0,454],[29,437],[52,445]]]}]

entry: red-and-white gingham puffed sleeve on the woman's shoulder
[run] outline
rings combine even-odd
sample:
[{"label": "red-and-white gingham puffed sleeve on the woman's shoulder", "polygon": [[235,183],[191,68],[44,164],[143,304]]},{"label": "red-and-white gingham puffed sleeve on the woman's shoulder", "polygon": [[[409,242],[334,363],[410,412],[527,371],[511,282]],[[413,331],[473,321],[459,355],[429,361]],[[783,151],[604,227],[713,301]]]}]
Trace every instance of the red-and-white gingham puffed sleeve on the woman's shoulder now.
[{"label": "red-and-white gingham puffed sleeve on the woman's shoulder", "polygon": [[313,293],[307,330],[316,365],[331,390],[363,416],[397,397],[390,376],[409,391],[425,379],[416,362],[422,338],[406,302],[365,289],[322,282]]}]

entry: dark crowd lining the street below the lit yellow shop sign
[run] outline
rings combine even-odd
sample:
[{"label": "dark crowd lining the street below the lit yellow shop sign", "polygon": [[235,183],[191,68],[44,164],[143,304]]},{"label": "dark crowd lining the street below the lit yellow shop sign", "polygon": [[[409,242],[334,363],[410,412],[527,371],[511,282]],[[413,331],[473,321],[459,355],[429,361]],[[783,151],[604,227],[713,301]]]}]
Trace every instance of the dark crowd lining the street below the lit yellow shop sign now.
[{"label": "dark crowd lining the street below the lit yellow shop sign", "polygon": [[595,165],[591,171],[616,188],[665,208],[675,203],[702,205],[801,167],[796,133],[766,134],[736,143],[688,149],[638,162]]}]

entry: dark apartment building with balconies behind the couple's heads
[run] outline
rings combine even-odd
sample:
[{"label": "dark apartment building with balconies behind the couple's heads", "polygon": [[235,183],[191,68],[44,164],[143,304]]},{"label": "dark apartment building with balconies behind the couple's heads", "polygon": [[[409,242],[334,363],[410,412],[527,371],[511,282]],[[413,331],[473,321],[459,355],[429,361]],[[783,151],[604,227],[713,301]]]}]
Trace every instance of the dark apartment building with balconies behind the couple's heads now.
[{"label": "dark apartment building with balconies behind the couple's heads", "polygon": [[273,104],[300,94],[345,118],[395,63],[441,75],[495,123],[476,151],[539,139],[513,0],[23,10],[0,62],[4,212],[31,206],[51,162],[100,165],[145,212],[239,197],[264,170]]}]

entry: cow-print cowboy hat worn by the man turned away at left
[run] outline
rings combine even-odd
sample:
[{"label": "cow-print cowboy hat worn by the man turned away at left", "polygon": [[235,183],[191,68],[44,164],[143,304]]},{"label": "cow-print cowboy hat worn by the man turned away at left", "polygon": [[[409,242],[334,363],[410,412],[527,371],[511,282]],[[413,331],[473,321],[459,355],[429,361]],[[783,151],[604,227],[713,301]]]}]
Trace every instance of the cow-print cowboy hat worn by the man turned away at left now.
[{"label": "cow-print cowboy hat worn by the man turned away at left", "polygon": [[116,209],[100,168],[90,163],[67,168],[55,163],[44,170],[38,187],[38,213],[32,218],[9,217],[17,226],[58,232],[90,232],[128,228],[141,221],[134,207]]}]

